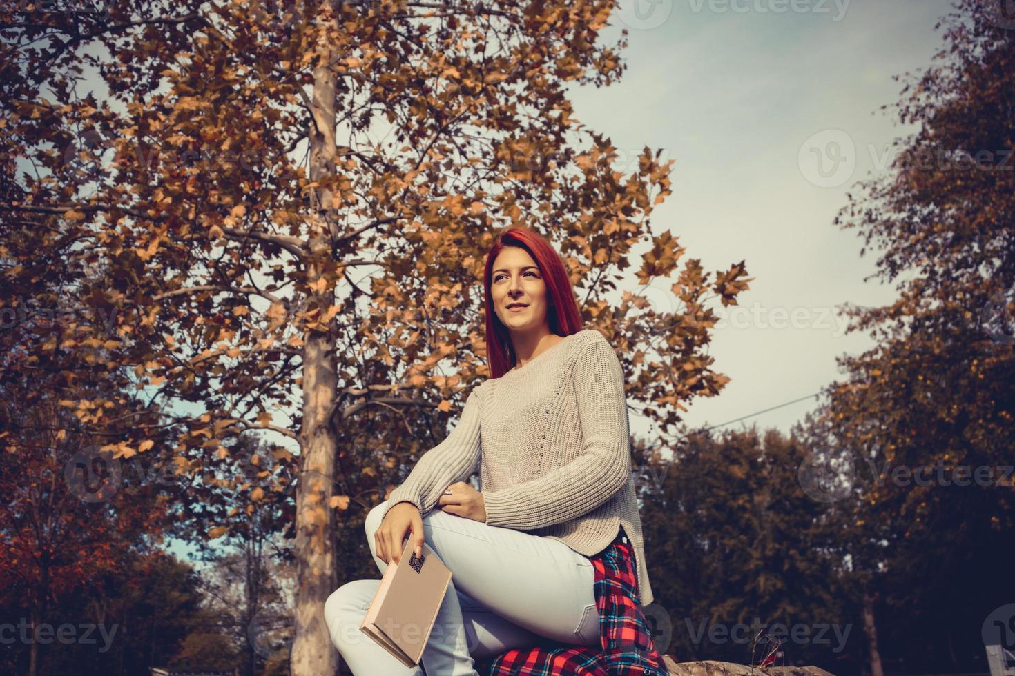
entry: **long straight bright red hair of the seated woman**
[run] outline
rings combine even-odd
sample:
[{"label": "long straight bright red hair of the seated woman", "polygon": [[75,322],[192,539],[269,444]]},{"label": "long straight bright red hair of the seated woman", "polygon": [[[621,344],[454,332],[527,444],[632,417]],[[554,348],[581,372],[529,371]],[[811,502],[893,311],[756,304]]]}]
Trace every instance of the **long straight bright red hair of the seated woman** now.
[{"label": "long straight bright red hair of the seated woman", "polygon": [[490,279],[493,277],[493,261],[505,246],[518,246],[529,252],[536,261],[539,273],[546,284],[546,319],[550,332],[570,335],[582,330],[582,313],[578,309],[574,289],[563,260],[549,241],[531,228],[513,227],[504,230],[490,246],[486,254],[486,270],[483,273],[483,288],[486,297],[486,355],[490,362],[490,377],[499,378],[510,371],[518,361],[507,328],[493,311],[493,294]]}]

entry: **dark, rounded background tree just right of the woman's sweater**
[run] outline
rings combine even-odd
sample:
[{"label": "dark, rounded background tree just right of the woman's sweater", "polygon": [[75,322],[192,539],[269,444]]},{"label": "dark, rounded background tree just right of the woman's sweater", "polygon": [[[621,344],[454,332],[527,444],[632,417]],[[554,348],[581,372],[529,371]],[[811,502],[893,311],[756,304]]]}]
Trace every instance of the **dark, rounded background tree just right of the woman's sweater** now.
[{"label": "dark, rounded background tree just right of the woman's sweater", "polygon": [[[642,527],[676,661],[752,663],[752,649],[763,647],[763,637],[754,642],[759,630],[782,622],[816,631],[838,622],[826,506],[794,476],[807,450],[795,436],[754,429],[690,435],[675,449],[664,480],[646,498]],[[726,630],[715,632],[716,625]],[[788,664],[839,673],[841,655],[783,640]]]}]

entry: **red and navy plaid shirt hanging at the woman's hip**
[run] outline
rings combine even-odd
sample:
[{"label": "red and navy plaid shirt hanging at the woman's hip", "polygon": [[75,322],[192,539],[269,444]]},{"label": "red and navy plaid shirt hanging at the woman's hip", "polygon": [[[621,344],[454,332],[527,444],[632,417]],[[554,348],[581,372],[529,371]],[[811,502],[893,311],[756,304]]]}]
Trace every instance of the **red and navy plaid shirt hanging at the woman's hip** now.
[{"label": "red and navy plaid shirt hanging at the woman's hip", "polygon": [[596,570],[599,649],[585,646],[514,648],[476,661],[483,676],[668,676],[638,605],[631,545],[623,529],[610,546],[589,557]]}]

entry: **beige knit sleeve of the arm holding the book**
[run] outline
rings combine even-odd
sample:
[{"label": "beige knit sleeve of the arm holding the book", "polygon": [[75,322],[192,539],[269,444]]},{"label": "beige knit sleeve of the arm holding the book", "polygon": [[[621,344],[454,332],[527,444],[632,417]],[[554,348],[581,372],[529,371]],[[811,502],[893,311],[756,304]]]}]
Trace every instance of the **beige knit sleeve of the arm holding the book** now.
[{"label": "beige knit sleeve of the arm holding the book", "polygon": [[423,453],[409,476],[391,492],[388,510],[398,503],[412,503],[422,516],[432,510],[441,493],[456,481],[464,481],[475,471],[479,462],[479,421],[482,415],[482,395],[479,386],[473,388],[465,400],[462,417],[445,440]]}]

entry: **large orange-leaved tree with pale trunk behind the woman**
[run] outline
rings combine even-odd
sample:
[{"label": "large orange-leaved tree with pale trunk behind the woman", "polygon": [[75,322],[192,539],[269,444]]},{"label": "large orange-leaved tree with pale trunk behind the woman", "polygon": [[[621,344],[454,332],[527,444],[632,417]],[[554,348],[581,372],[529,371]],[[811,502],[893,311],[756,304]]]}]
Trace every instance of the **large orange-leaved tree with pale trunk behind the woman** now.
[{"label": "large orange-leaved tree with pale trunk behind the woman", "polygon": [[[109,377],[149,395],[118,457],[155,429],[173,431],[182,475],[247,430],[298,457],[293,673],[335,668],[321,609],[350,501],[334,491],[341,430],[382,409],[443,417],[489,375],[475,282],[498,228],[553,239],[584,318],[614,336],[630,398],[664,430],[727,381],[704,354],[706,294],[735,303],[743,261],[713,280],[687,260],[673,312],[607,297],[635,245],[645,285],[685,252],[650,223],[669,163],[646,148],[616,171],[565,96],[620,76],[625,37],[597,43],[612,8],[185,0],[4,24],[0,139],[21,166],[8,159],[2,181],[7,277],[28,284],[58,248],[71,270],[108,267],[108,285],[78,294],[115,310]],[[82,66],[105,91],[79,91]]]}]

